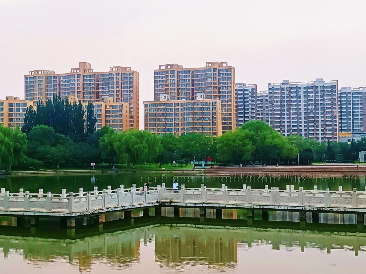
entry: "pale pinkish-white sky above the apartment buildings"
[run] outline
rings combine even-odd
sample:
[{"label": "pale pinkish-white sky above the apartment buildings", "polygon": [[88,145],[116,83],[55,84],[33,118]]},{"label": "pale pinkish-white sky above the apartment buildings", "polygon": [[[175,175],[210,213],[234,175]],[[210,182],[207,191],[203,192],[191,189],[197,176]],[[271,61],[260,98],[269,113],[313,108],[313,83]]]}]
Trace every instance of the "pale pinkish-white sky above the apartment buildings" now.
[{"label": "pale pinkish-white sky above the apartment buildings", "polygon": [[365,87],[365,10],[364,0],[0,0],[0,99],[24,98],[31,70],[80,61],[138,71],[140,104],[169,63],[228,62],[258,90],[316,78]]}]

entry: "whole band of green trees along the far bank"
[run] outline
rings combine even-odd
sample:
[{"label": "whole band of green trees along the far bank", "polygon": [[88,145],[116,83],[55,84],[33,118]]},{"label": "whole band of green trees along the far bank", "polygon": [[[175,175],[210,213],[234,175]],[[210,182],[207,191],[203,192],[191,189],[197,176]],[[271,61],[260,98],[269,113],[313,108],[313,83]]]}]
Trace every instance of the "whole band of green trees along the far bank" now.
[{"label": "whole band of green trees along the far bank", "polygon": [[[70,117],[80,104],[68,104],[66,100],[52,105],[54,107],[48,105],[47,109],[46,105],[37,111],[29,108],[28,112],[33,111],[33,114],[28,115],[33,115],[31,121],[34,122],[27,123],[31,125],[30,129],[22,128],[25,133],[0,126],[0,169],[90,166],[92,162],[127,166],[156,163],[161,167],[175,161],[182,166],[190,160],[207,157],[221,164],[295,164],[298,153],[300,164],[310,164],[313,161],[355,161],[358,152],[366,150],[366,138],[347,144],[317,142],[299,135],[283,137],[265,122],[255,120],[220,137],[202,134],[158,136],[137,129],[117,133],[108,127],[96,131],[95,123],[94,129],[91,126],[88,131],[84,115],[81,115],[82,106],[78,110],[79,121]],[[73,107],[76,109],[72,110]],[[52,118],[50,113],[59,113],[60,117]],[[92,112],[87,110],[87,113]],[[91,115],[90,118],[93,119]],[[75,130],[81,122],[84,123],[83,130],[81,126]],[[61,125],[66,125],[67,129]]]}]

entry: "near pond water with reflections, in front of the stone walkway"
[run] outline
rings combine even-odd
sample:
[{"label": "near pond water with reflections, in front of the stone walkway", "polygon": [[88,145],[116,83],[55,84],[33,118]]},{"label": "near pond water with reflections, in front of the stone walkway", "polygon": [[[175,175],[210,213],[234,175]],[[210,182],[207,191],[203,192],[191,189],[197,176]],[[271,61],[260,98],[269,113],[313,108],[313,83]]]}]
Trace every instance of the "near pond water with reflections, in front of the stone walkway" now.
[{"label": "near pond water with reflections, in front of the stone walkway", "polygon": [[[1,273],[362,273],[366,237],[152,225],[82,239],[0,236]],[[311,263],[310,263],[311,262]]]}]

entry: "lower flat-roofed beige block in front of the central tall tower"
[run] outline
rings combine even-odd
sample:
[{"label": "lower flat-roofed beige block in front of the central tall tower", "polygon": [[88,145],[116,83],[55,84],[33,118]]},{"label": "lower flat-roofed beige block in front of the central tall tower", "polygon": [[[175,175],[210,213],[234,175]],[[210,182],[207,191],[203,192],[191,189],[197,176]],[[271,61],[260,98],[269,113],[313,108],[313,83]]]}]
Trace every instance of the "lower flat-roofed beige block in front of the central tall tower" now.
[{"label": "lower flat-roofed beige block in front of the central tall tower", "polygon": [[[198,97],[202,95],[198,95]],[[221,101],[218,99],[145,101],[144,129],[158,135],[198,133],[221,136]]]}]

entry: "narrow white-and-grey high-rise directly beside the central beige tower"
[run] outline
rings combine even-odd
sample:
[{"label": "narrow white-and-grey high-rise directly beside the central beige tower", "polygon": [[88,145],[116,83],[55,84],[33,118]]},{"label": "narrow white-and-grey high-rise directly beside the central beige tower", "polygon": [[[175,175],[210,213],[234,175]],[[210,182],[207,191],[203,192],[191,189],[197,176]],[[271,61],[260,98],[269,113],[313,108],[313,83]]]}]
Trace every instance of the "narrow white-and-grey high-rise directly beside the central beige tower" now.
[{"label": "narrow white-and-grey high-rise directly beside the central beige tower", "polygon": [[256,84],[235,83],[235,110],[236,128],[247,121],[259,119]]}]

